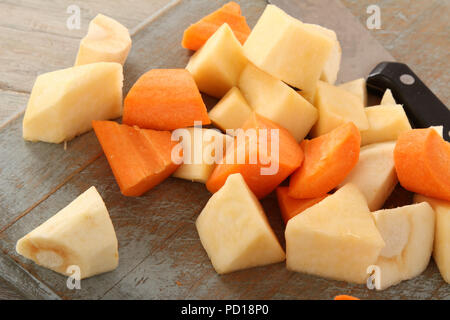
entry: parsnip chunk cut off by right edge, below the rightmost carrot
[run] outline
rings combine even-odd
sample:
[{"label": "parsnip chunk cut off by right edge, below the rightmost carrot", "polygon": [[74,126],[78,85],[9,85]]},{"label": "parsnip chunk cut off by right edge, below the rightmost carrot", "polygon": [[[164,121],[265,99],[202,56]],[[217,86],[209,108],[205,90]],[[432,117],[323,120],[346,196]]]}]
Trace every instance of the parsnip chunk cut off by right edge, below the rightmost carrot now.
[{"label": "parsnip chunk cut off by right edge, below the rightmost carrot", "polygon": [[414,202],[428,202],[436,214],[433,258],[442,278],[450,283],[450,202],[420,194],[414,195]]}]

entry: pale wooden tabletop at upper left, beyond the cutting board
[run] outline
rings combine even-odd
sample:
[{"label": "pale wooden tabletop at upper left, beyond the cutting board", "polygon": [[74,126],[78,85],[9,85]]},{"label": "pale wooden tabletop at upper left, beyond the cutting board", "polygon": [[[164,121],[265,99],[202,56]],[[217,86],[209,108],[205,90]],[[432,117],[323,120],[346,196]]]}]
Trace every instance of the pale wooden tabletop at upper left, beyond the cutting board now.
[{"label": "pale wooden tabletop at upper left, beyond the cutting board", "polygon": [[75,62],[79,39],[98,13],[116,18],[129,28],[167,5],[167,0],[83,1],[81,28],[69,30],[67,7],[72,1],[6,1],[0,3],[0,89],[30,92],[42,73],[68,68]]}]

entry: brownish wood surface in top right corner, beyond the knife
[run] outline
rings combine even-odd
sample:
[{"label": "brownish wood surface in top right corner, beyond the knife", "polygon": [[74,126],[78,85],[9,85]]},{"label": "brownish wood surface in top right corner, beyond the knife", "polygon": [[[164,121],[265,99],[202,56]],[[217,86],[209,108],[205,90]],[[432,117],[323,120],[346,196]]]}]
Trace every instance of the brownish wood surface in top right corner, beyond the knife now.
[{"label": "brownish wood surface in top right corner, beyond the knife", "polygon": [[407,63],[450,106],[450,5],[448,1],[341,0],[365,25],[366,9],[381,9],[381,29],[370,33],[398,60]]}]

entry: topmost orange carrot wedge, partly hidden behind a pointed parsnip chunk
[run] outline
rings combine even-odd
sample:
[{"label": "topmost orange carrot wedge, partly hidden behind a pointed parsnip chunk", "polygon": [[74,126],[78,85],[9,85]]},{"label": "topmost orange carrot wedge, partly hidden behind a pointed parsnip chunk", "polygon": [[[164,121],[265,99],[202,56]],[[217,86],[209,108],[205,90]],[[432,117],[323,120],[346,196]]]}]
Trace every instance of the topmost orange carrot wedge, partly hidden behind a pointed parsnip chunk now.
[{"label": "topmost orange carrot wedge, partly hidden behind a pointed parsnip chunk", "polygon": [[222,8],[203,17],[189,26],[183,35],[181,45],[190,50],[200,49],[214,32],[227,23],[241,44],[244,44],[251,32],[245,17],[241,15],[241,7],[236,2],[229,2]]}]

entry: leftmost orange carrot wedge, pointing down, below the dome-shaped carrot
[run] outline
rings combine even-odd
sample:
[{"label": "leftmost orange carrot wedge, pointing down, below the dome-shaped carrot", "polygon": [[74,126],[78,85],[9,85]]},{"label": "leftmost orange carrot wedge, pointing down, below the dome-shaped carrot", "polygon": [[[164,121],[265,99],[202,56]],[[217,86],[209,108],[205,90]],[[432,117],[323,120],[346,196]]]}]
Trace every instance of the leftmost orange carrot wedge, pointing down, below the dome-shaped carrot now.
[{"label": "leftmost orange carrot wedge, pointing down, below the dome-shaped carrot", "polygon": [[179,165],[171,160],[169,131],[154,131],[93,121],[92,127],[111,166],[120,191],[125,196],[140,196],[169,177]]}]

